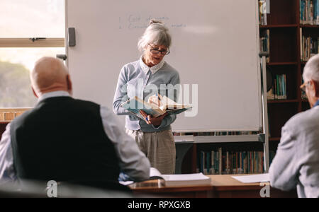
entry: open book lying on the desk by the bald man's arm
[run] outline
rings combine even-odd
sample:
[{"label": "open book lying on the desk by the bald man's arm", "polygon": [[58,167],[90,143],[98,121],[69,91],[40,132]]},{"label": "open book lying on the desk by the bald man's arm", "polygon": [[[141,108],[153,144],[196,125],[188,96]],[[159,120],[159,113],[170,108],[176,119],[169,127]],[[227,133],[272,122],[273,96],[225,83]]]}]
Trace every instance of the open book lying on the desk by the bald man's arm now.
[{"label": "open book lying on the desk by the bald man's arm", "polygon": [[[165,187],[198,186],[211,184],[211,178],[203,173],[183,175],[162,175],[155,167],[150,168],[150,179],[163,179]],[[121,184],[133,184],[133,182],[120,182]]]}]

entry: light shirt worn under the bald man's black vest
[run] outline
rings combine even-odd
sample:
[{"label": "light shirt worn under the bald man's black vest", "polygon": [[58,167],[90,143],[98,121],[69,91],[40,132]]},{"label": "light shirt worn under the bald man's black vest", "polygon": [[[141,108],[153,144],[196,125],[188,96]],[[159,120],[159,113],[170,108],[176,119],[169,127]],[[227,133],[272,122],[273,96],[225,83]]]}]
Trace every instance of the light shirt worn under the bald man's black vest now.
[{"label": "light shirt worn under the bald man's black vest", "polygon": [[[45,93],[38,101],[61,96],[69,96],[69,93],[65,91]],[[107,107],[101,106],[100,112],[104,131],[115,147],[121,171],[136,181],[149,179],[150,162],[145,154],[140,151],[136,142],[125,134],[118,117]],[[12,182],[16,179],[16,172],[13,167],[10,124],[8,124],[0,141],[0,184]]]}]

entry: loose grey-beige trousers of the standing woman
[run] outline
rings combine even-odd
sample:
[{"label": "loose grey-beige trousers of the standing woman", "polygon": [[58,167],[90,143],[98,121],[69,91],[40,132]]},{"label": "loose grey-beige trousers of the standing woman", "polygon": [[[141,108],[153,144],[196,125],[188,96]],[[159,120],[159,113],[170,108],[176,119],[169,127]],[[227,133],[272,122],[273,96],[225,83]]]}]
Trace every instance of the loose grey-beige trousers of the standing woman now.
[{"label": "loose grey-beige trousers of the standing woman", "polygon": [[151,167],[157,168],[163,175],[175,173],[176,148],[172,130],[142,132],[126,129],[126,133],[138,143]]}]

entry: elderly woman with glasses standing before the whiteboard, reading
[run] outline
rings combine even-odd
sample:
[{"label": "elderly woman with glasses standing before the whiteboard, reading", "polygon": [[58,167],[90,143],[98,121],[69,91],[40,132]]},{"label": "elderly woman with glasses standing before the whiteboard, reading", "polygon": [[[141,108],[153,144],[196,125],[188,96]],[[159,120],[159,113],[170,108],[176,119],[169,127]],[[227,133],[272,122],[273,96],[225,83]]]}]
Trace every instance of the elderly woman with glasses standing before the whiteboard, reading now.
[{"label": "elderly woman with glasses standing before the whiteboard, reading", "polygon": [[[126,116],[127,133],[138,143],[152,167],[156,167],[162,174],[175,172],[176,150],[171,124],[176,115],[164,114],[155,118],[142,111],[145,119],[139,119],[121,107],[121,104],[135,96],[150,101],[149,97],[152,95],[167,95],[171,92],[169,87],[180,83],[179,73],[164,61],[164,57],[169,54],[171,42],[168,28],[159,21],[151,20],[150,26],[138,42],[142,57],[123,66],[113,101],[114,112]],[[177,100],[176,96],[174,100]]]}]

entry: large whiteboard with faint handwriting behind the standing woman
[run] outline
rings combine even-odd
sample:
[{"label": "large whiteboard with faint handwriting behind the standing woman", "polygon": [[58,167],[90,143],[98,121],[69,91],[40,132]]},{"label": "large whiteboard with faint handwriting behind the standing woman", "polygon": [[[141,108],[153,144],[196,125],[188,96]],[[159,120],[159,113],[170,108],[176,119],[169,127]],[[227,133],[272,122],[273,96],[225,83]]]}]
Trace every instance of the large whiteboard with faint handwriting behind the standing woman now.
[{"label": "large whiteboard with faint handwriting behind the standing woman", "polygon": [[262,127],[257,1],[67,0],[66,14],[77,35],[67,47],[75,98],[112,108],[121,68],[140,59],[138,39],[155,18],[172,35],[165,61],[182,85],[198,86],[190,95],[196,116],[177,115],[173,131]]}]

